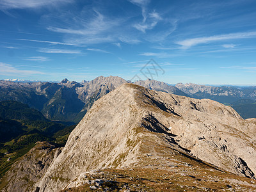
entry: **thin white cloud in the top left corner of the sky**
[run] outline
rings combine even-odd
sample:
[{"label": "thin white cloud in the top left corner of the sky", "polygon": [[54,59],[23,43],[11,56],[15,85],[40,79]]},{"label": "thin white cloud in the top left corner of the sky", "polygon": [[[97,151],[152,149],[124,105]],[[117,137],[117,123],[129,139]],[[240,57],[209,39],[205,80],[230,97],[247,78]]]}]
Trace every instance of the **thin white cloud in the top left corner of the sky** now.
[{"label": "thin white cloud in the top left corner of the sky", "polygon": [[45,6],[60,6],[61,4],[72,3],[74,0],[1,0],[0,10],[42,8]]}]

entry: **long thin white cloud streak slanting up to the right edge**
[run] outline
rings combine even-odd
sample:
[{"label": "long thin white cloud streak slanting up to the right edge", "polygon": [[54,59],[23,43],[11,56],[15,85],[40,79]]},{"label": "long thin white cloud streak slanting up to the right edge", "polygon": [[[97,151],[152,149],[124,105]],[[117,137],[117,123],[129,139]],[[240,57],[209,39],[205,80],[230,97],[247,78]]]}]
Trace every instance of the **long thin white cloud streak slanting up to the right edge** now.
[{"label": "long thin white cloud streak slanting up to the right edge", "polygon": [[177,42],[178,45],[182,45],[182,48],[188,49],[189,47],[198,45],[198,44],[207,44],[209,42],[221,41],[221,40],[230,40],[230,39],[239,39],[239,38],[253,38],[256,37],[256,32],[247,32],[247,33],[230,33],[226,35],[214,35],[207,37],[198,37],[198,38],[189,38]]}]

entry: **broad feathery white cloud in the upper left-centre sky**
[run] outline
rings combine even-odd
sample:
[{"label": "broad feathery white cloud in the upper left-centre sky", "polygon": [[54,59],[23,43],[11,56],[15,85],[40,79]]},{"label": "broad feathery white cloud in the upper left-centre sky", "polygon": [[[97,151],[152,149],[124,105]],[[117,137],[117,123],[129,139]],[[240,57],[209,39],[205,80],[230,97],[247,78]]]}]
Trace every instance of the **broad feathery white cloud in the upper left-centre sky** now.
[{"label": "broad feathery white cloud in the upper left-centre sky", "polygon": [[[47,29],[56,33],[63,33],[66,44],[89,45],[118,40],[118,34],[113,33],[113,30],[119,30],[118,27],[122,24],[122,19],[110,19],[96,10],[90,10],[90,12],[86,15],[81,13],[80,17],[77,17],[77,15],[70,17],[68,15],[70,20],[67,21],[65,26],[70,26],[69,28],[48,26]],[[62,17],[65,17],[65,15]],[[63,18],[60,19],[63,20]]]}]

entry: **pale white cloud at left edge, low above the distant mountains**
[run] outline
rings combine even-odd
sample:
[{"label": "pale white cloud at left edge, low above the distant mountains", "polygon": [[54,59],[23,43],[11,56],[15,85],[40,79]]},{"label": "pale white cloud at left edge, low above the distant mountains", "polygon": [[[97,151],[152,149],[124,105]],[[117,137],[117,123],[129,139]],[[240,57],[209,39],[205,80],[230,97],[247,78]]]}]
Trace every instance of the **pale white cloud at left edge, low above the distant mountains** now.
[{"label": "pale white cloud at left edge, low above the distant mountains", "polygon": [[33,74],[44,74],[43,72],[36,70],[20,70],[6,63],[0,63],[0,74],[2,76],[28,76]]}]

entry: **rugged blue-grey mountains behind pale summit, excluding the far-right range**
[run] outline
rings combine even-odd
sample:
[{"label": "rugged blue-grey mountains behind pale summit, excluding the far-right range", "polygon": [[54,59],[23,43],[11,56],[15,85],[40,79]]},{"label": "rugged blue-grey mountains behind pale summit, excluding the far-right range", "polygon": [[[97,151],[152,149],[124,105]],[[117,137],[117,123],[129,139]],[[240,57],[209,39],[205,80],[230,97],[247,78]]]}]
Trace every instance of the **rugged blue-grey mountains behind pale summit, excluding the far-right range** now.
[{"label": "rugged blue-grey mountains behind pale summit, excluding the far-right range", "polygon": [[[20,83],[0,81],[0,100],[16,100],[42,112],[50,120],[78,123],[93,102],[124,83],[121,77],[97,77],[92,81],[77,83],[63,79],[60,83]],[[137,82],[139,84],[143,81]],[[145,81],[145,86],[177,95],[186,95],[174,86],[154,80]]]}]

